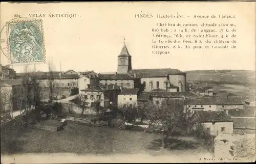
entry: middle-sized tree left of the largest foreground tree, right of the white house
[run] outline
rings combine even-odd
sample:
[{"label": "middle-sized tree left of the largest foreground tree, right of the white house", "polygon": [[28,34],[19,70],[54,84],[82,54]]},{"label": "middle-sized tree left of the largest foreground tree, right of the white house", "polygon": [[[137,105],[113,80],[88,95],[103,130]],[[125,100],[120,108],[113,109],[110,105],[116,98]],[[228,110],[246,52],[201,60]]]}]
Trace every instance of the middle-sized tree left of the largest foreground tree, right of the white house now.
[{"label": "middle-sized tree left of the largest foreground tree, right of the white house", "polygon": [[139,105],[139,113],[148,120],[148,127],[144,130],[146,132],[151,128],[152,124],[155,123],[159,117],[160,105],[148,101]]}]

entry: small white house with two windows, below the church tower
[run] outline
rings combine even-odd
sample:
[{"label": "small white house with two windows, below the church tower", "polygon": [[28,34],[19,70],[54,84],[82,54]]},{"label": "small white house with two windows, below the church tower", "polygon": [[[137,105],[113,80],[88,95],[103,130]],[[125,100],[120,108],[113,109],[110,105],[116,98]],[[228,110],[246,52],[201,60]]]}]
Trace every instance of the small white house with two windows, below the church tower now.
[{"label": "small white house with two windows, below the church tower", "polygon": [[124,89],[118,94],[118,104],[137,105],[137,99],[140,95],[138,88]]}]

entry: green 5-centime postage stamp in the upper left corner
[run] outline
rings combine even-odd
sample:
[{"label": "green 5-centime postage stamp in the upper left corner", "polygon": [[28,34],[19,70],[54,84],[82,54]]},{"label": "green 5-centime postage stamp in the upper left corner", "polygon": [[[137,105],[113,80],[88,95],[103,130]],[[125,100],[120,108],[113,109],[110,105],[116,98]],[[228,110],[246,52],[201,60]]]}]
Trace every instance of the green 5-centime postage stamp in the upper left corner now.
[{"label": "green 5-centime postage stamp in the upper left corner", "polygon": [[7,22],[11,64],[44,63],[42,20]]}]

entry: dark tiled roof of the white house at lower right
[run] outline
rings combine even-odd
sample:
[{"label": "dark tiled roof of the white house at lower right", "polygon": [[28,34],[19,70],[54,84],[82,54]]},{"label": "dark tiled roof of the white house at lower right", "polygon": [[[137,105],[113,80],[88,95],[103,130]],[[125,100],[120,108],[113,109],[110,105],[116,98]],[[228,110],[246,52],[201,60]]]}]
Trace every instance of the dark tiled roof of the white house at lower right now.
[{"label": "dark tiled roof of the white house at lower right", "polygon": [[224,111],[195,111],[201,122],[225,122],[231,121]]}]

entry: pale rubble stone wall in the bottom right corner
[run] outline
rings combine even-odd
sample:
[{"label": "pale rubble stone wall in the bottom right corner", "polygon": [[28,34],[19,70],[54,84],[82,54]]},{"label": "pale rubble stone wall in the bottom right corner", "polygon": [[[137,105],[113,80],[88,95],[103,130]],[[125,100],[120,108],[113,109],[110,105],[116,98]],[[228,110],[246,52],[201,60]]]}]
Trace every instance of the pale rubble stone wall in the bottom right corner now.
[{"label": "pale rubble stone wall in the bottom right corner", "polygon": [[255,161],[254,134],[220,134],[215,138],[215,157]]}]

